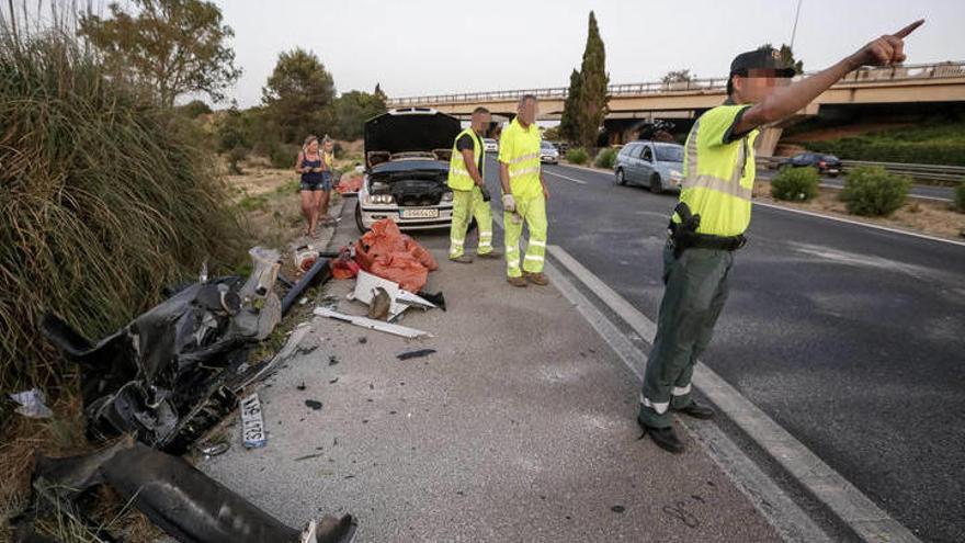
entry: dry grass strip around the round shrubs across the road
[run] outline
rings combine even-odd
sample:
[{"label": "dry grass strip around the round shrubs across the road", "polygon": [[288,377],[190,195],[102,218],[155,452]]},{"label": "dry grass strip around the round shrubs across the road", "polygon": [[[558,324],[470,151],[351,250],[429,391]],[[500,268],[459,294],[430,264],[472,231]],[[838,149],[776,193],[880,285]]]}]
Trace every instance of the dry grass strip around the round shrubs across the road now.
[{"label": "dry grass strip around the round shrubs across the road", "polygon": [[840,216],[851,220],[870,223],[892,228],[904,228],[932,236],[962,239],[965,231],[965,214],[952,208],[949,202],[908,199],[908,203],[887,217],[859,217],[851,215],[838,196],[840,190],[821,188],[816,199],[805,203],[780,202],[771,197],[771,183],[765,180],[754,182],[754,200],[804,210],[826,215]]}]

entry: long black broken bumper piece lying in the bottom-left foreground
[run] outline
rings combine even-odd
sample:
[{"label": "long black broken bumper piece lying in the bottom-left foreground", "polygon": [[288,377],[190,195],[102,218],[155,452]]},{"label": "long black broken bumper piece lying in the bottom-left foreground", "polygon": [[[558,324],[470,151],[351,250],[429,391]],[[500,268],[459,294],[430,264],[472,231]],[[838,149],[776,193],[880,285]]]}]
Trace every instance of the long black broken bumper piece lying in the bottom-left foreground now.
[{"label": "long black broken bumper piece lying in the bottom-left foreground", "polygon": [[184,460],[124,439],[92,454],[37,459],[33,486],[46,502],[22,519],[22,540],[31,540],[31,514],[43,507],[69,508],[99,485],[110,486],[164,532],[186,543],[349,543],[356,529],[350,514],[326,516],[302,530],[291,528]]}]

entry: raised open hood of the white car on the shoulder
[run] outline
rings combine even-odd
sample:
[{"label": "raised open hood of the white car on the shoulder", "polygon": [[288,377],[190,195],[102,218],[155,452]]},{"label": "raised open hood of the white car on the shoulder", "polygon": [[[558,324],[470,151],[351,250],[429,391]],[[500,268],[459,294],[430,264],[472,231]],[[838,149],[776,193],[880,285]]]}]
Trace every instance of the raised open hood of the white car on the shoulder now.
[{"label": "raised open hood of the white car on the shoulder", "polygon": [[429,108],[404,108],[383,113],[365,122],[365,166],[374,155],[432,152],[452,149],[459,133],[459,120]]}]

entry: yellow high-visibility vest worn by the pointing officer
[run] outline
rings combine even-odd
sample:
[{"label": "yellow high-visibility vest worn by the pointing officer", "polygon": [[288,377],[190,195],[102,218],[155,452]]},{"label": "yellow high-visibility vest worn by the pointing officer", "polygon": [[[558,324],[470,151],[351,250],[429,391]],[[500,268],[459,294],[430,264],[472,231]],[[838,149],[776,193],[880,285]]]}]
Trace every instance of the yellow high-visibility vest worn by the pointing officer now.
[{"label": "yellow high-visibility vest worn by the pointing officer", "polygon": [[[680,201],[701,216],[700,234],[737,236],[750,225],[753,144],[759,131],[725,142],[735,120],[748,108],[714,108],[697,118],[686,138]],[[680,217],[674,213],[672,220],[680,223]]]}]

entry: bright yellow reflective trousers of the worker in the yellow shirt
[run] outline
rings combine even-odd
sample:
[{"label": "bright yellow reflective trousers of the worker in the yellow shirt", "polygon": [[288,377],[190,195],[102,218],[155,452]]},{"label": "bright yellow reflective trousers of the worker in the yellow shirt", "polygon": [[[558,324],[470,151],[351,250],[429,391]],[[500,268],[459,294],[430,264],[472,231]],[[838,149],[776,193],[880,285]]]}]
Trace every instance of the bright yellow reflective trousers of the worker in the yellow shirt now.
[{"label": "bright yellow reflective trousers of the worker in the yellow shirt", "polygon": [[523,235],[523,222],[530,229],[526,241],[526,254],[523,257],[523,270],[530,273],[543,271],[546,257],[546,200],[538,196],[516,200],[516,216],[503,212],[502,226],[506,231],[506,274],[510,278],[523,275],[520,270],[520,238]]}]

